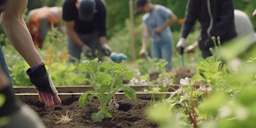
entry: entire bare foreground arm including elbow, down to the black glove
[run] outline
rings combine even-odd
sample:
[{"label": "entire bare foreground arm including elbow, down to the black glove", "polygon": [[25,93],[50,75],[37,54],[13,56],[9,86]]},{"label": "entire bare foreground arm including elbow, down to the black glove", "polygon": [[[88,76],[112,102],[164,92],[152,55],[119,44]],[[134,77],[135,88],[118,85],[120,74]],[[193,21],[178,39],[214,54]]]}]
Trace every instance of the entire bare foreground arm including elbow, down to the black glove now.
[{"label": "entire bare foreground arm including elbow, down to the black glove", "polygon": [[26,5],[27,0],[8,0],[7,8],[1,15],[1,25],[11,44],[32,67],[42,59],[22,18]]}]

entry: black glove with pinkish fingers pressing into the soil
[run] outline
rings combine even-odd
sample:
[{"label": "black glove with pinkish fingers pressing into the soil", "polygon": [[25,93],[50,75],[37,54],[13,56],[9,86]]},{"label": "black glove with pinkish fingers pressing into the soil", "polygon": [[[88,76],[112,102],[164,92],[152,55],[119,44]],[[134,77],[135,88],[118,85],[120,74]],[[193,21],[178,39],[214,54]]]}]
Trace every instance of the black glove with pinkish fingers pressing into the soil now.
[{"label": "black glove with pinkish fingers pressing into the soil", "polygon": [[38,67],[33,70],[28,68],[26,74],[29,75],[30,82],[34,84],[39,100],[42,103],[45,103],[48,107],[53,107],[53,98],[57,104],[61,104],[61,100],[57,95],[58,91],[53,85],[44,63],[38,65]]}]

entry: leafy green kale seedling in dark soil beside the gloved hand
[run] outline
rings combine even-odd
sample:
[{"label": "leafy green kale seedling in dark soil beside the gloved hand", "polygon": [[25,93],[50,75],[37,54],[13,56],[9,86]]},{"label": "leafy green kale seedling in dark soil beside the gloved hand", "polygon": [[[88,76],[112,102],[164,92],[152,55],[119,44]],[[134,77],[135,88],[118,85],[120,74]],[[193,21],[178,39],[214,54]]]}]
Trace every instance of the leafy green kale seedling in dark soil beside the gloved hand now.
[{"label": "leafy green kale seedling in dark soil beside the gloved hand", "polygon": [[[81,74],[76,77],[76,82],[87,81],[93,86],[93,90],[88,90],[80,96],[79,105],[85,106],[87,99],[92,99],[92,97],[99,100],[99,111],[91,115],[93,121],[102,121],[104,117],[112,117],[108,111],[118,106],[114,98],[114,94],[118,91],[123,91],[126,97],[136,100],[135,90],[122,83],[121,76],[127,79],[133,77],[132,71],[124,63],[100,62],[95,58],[81,62],[79,70]],[[89,77],[85,78],[83,74]],[[111,105],[112,101],[114,105]]]}]

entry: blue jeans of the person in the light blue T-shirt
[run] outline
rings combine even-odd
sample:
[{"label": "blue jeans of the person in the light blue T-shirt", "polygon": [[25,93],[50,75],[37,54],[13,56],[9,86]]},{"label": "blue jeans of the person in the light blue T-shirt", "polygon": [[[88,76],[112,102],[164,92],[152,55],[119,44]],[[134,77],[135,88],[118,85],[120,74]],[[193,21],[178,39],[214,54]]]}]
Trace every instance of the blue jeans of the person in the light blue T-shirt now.
[{"label": "blue jeans of the person in the light blue T-shirt", "polygon": [[171,57],[172,57],[172,41],[159,41],[151,43],[151,56],[152,58],[163,59],[168,61],[165,65],[166,69],[171,69]]}]

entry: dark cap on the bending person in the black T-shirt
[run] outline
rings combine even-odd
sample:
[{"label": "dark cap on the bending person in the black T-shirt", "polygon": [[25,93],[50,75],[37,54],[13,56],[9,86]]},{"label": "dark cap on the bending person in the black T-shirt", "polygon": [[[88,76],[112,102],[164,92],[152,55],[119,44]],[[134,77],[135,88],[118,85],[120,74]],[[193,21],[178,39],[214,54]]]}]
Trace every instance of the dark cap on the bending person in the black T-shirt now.
[{"label": "dark cap on the bending person in the black T-shirt", "polygon": [[90,21],[93,19],[95,9],[95,0],[80,0],[78,16],[83,21]]}]

